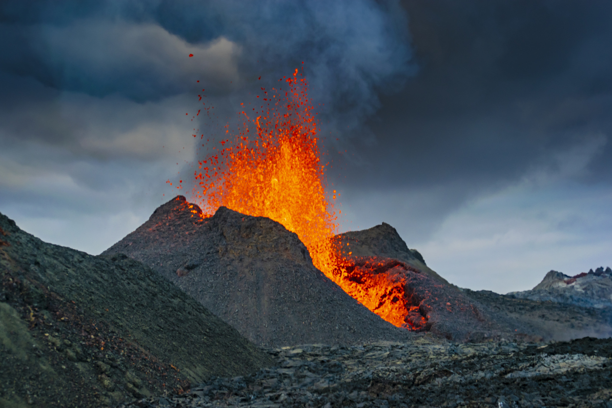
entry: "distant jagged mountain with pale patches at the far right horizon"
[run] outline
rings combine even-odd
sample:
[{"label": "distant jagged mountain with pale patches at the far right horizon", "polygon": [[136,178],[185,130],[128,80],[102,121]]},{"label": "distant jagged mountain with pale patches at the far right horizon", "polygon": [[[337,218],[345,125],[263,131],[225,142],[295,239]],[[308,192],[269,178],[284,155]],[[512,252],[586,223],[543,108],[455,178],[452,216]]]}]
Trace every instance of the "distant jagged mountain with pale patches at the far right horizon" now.
[{"label": "distant jagged mountain with pale patches at the far right horizon", "polygon": [[510,292],[507,295],[516,299],[612,308],[612,269],[599,267],[574,276],[551,270],[530,291]]}]

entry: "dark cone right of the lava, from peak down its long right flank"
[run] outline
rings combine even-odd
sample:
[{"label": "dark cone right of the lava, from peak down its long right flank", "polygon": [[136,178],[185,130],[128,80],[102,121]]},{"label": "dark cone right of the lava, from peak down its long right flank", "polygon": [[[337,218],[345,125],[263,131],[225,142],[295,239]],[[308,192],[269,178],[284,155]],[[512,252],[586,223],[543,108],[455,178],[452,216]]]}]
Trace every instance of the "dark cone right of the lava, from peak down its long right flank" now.
[{"label": "dark cone right of the lava, from peak down its long right flank", "polygon": [[[455,341],[535,340],[540,336],[533,327],[519,324],[514,317],[466,297],[465,292],[427,267],[421,254],[409,249],[395,228],[387,223],[363,231],[338,234],[337,239],[341,243],[341,253],[356,264],[395,265],[400,261],[403,265],[400,266],[403,269],[401,273],[405,276],[407,306],[418,307],[423,317],[422,326],[432,333]],[[375,268],[373,272],[389,273],[383,269]],[[414,317],[418,319],[420,316]]]}]

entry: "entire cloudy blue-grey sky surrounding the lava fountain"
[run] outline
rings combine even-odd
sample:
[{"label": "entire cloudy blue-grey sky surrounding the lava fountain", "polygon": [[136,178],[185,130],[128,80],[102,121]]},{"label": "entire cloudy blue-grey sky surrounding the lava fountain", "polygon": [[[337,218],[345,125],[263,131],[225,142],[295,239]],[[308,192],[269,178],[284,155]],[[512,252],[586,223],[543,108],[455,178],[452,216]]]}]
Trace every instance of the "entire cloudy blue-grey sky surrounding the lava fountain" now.
[{"label": "entire cloudy blue-grey sky surrounding the lava fountain", "polygon": [[304,61],[339,232],[385,221],[501,293],[612,266],[610,21],[603,0],[4,0],[0,212],[98,254],[176,195],[193,128]]}]

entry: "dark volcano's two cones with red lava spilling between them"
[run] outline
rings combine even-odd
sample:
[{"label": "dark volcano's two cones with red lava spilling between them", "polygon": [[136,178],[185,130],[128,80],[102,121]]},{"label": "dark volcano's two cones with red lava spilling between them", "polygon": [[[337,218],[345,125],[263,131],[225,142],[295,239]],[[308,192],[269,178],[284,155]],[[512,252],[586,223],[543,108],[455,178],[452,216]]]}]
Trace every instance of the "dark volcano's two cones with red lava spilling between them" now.
[{"label": "dark volcano's two cones with red lava spilling between them", "polygon": [[[347,258],[344,278],[361,289],[365,282],[370,290],[377,282],[385,287],[394,282],[403,292],[390,297],[382,291],[379,303],[403,302],[406,328],[384,321],[316,269],[305,245],[282,224],[226,207],[203,218],[184,196],[160,206],[103,254],[124,253],[149,265],[264,346],[406,341],[419,332],[458,341],[513,335],[512,323],[493,316],[435,272],[414,267],[418,258],[417,265],[425,266],[420,254],[409,251],[397,232],[387,237],[387,230],[338,236],[352,239],[361,248],[357,253],[369,255]],[[360,239],[364,236],[371,239]],[[393,247],[389,242],[404,254],[386,251]]]}]

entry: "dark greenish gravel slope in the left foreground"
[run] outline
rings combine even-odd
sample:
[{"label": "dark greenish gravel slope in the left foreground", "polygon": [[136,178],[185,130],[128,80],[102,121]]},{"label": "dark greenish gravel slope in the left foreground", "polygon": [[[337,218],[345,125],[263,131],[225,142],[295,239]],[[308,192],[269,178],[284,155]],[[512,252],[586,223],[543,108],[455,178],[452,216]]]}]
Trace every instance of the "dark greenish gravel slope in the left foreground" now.
[{"label": "dark greenish gravel slope in the left foreground", "polygon": [[125,255],[90,256],[0,214],[0,406],[99,407],[271,358]]}]

